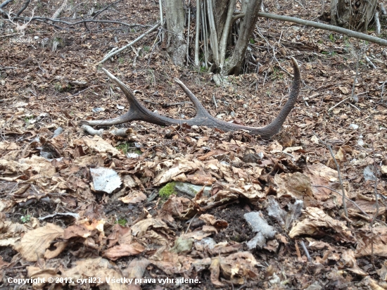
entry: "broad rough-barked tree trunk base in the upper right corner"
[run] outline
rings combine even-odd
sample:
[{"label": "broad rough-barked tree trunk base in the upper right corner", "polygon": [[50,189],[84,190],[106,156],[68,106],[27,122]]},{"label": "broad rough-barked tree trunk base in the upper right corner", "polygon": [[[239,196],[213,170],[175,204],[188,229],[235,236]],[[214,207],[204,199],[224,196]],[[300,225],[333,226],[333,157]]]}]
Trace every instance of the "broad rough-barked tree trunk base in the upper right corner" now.
[{"label": "broad rough-barked tree trunk base in the upper right corner", "polygon": [[377,0],[331,0],[333,25],[355,31],[366,31],[374,20]]}]

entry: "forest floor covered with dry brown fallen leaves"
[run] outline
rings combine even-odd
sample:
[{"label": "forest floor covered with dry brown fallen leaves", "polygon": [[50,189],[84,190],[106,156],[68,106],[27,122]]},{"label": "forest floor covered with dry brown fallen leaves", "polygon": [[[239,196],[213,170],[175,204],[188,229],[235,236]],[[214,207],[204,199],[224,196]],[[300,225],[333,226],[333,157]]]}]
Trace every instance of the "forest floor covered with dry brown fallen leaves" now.
[{"label": "forest floor covered with dry brown fallen leaves", "polygon": [[[111,3],[70,1],[61,17]],[[321,1],[265,5],[327,23]],[[23,15],[59,6],[32,1]],[[0,20],[0,288],[41,278],[34,289],[387,289],[387,49],[260,18],[246,73],[222,87],[173,65],[158,30],[96,65],[158,17],[158,3],[130,0],[99,18],[125,29],[32,22],[22,33]],[[262,127],[286,101],[291,56],[300,96],[272,140],[141,121],[117,126],[125,137],[80,127],[128,108],[101,68],[151,111],[194,117],[177,77],[211,115]],[[209,188],[189,196],[182,184]]]}]

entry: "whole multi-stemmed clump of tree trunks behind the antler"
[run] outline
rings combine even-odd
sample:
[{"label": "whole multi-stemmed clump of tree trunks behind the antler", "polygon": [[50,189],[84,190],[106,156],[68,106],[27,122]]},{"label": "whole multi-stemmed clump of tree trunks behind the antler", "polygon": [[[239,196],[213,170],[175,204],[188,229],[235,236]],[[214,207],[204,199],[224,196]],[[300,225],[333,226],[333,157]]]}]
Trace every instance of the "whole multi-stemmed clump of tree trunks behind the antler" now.
[{"label": "whole multi-stemmed clump of tree trunks behind the antler", "polygon": [[[184,42],[184,7],[182,1],[185,0],[165,0],[165,19],[167,20],[167,51],[176,65],[184,65],[187,44]],[[258,19],[258,12],[262,0],[243,0],[242,10],[244,17],[239,21],[239,34],[236,43],[231,42],[231,35],[237,32],[232,31],[231,24],[236,0],[201,0],[190,1],[191,4],[198,6],[196,11],[196,34],[201,31],[202,51],[205,55],[205,67],[211,63],[211,71],[221,73],[222,75],[239,75],[245,60],[246,49],[251,34],[255,29],[255,23]],[[200,15],[199,15],[200,13]],[[232,25],[234,27],[234,25]],[[199,59],[199,37],[196,39],[194,52],[195,64],[198,65]],[[189,44],[188,44],[189,45]],[[210,45],[211,53],[208,53]],[[233,47],[231,50],[230,48]],[[187,60],[188,61],[188,60]]]}]

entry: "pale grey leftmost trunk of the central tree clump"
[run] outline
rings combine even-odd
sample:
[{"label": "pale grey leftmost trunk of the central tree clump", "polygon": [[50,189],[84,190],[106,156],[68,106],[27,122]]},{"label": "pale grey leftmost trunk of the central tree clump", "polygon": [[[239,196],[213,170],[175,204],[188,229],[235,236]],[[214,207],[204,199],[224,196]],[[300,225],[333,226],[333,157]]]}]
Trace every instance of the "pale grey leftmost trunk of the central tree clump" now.
[{"label": "pale grey leftmost trunk of the central tree clump", "polygon": [[183,66],[186,56],[184,40],[185,12],[182,0],[165,0],[167,21],[167,52],[175,65]]}]

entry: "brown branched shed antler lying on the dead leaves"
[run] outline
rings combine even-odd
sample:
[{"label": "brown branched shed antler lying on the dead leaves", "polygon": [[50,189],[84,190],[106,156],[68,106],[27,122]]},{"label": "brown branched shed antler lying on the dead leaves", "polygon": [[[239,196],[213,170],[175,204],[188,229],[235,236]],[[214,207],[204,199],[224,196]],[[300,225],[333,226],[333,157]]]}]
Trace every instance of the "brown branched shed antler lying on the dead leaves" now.
[{"label": "brown branched shed antler lying on the dead leaves", "polygon": [[158,115],[149,111],[147,108],[141,105],[139,101],[135,98],[131,89],[129,89],[124,83],[118,80],[114,75],[112,75],[108,70],[102,69],[110,80],[113,80],[115,84],[120,87],[122,92],[124,92],[127,101],[129,102],[129,111],[120,117],[109,119],[109,120],[90,120],[90,121],[81,121],[82,125],[91,125],[91,126],[108,126],[108,125],[117,125],[124,122],[131,122],[134,120],[141,120],[145,122],[151,122],[156,125],[182,125],[186,123],[188,125],[198,125],[198,126],[207,126],[207,127],[216,127],[217,129],[223,131],[236,131],[236,130],[247,130],[250,134],[260,135],[264,139],[271,138],[274,134],[277,134],[281,130],[282,124],[284,124],[286,117],[291,112],[294,107],[294,104],[297,101],[297,96],[300,91],[300,68],[296,59],[291,58],[293,63],[294,70],[294,79],[291,87],[291,93],[289,95],[288,101],[286,101],[285,106],[281,109],[277,118],[275,118],[269,125],[265,127],[249,127],[243,125],[236,125],[229,122],[224,122],[217,118],[212,117],[208,111],[205,110],[201,102],[196,98],[196,96],[177,78],[175,82],[183,89],[189,99],[194,103],[196,108],[196,116],[189,120],[181,119],[172,119],[162,115]]}]

